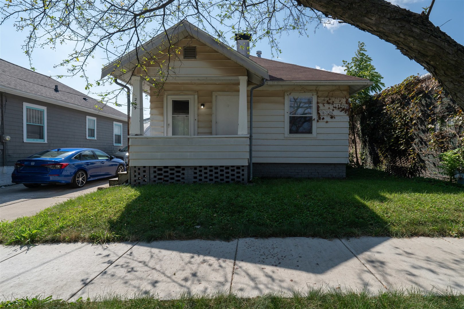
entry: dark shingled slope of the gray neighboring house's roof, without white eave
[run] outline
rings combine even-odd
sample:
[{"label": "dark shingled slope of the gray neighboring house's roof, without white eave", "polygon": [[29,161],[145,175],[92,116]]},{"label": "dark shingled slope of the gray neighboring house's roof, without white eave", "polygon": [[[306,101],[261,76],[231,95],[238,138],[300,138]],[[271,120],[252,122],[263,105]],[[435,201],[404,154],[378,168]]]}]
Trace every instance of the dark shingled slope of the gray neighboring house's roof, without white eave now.
[{"label": "dark shingled slope of the gray neighboring house's roof, without white eave", "polygon": [[[126,114],[108,105],[102,107],[100,110],[95,106],[101,107],[102,103],[91,98],[89,95],[66,86],[49,76],[20,67],[3,59],[0,59],[0,72],[0,85],[8,88],[91,108],[95,111],[103,111],[106,114],[117,117],[127,117]],[[55,85],[58,85],[59,92],[55,92]],[[87,101],[84,98],[87,98]]]}]

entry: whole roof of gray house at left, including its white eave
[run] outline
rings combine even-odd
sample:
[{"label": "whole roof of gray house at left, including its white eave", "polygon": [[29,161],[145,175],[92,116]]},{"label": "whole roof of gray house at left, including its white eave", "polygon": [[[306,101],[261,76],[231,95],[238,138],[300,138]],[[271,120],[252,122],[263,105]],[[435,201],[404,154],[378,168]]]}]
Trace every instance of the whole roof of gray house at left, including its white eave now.
[{"label": "whole roof of gray house at left, including its white eave", "polygon": [[[127,115],[65,84],[0,59],[0,91],[127,121]],[[58,91],[55,92],[55,85]],[[84,100],[86,98],[87,100]]]}]

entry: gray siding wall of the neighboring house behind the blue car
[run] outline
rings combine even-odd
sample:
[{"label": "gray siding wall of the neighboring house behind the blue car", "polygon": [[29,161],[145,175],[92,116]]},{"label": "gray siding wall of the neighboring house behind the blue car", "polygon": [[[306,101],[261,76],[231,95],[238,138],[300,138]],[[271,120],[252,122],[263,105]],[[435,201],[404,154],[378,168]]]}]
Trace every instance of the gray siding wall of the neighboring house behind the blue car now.
[{"label": "gray siding wall of the neighboring house behind the blue car", "polygon": [[[64,147],[97,148],[112,155],[118,148],[127,145],[127,121],[99,114],[61,107],[55,104],[7,94],[5,124],[7,143],[6,164],[0,155],[0,166],[13,165],[42,150]],[[23,139],[23,102],[47,108],[47,143],[25,143]],[[97,139],[87,139],[86,116],[97,118]],[[113,145],[113,121],[122,123],[122,146]],[[4,151],[4,150],[1,150]]]}]

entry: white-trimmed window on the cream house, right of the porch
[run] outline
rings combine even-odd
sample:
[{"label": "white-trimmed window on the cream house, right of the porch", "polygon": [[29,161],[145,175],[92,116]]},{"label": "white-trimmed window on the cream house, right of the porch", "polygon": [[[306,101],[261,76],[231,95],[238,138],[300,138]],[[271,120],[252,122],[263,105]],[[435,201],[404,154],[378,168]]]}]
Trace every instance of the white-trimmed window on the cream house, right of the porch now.
[{"label": "white-trimmed window on the cream house, right of the porch", "polygon": [[314,93],[285,94],[285,136],[315,137],[317,98]]}]

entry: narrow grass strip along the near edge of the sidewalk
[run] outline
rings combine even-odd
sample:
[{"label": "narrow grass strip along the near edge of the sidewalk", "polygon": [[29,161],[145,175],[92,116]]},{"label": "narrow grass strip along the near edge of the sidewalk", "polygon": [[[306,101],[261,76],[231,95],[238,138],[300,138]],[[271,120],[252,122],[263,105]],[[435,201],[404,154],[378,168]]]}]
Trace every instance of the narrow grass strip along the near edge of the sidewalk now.
[{"label": "narrow grass strip along the near edge of the sidewalk", "polygon": [[[3,305],[3,307],[2,307]],[[145,296],[133,299],[121,297],[102,297],[97,301],[67,303],[50,298],[18,299],[0,302],[0,308],[85,308],[85,309],[123,309],[123,308],[153,308],[153,309],[462,309],[464,295],[454,293],[432,294],[419,292],[383,292],[369,295],[366,292],[338,292],[311,290],[305,295],[283,296],[267,294],[253,298],[241,298],[235,295],[187,296],[177,300],[159,300]]]}]

